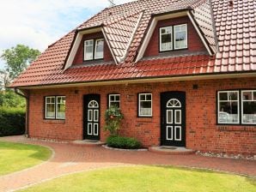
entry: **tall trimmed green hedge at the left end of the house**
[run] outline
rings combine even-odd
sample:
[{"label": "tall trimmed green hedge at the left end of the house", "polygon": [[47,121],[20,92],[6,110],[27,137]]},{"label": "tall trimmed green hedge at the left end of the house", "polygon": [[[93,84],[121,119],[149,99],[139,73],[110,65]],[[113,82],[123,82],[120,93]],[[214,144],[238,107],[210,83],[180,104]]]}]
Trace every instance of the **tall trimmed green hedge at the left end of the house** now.
[{"label": "tall trimmed green hedge at the left end of the house", "polygon": [[21,108],[0,108],[0,136],[25,133],[26,112]]}]

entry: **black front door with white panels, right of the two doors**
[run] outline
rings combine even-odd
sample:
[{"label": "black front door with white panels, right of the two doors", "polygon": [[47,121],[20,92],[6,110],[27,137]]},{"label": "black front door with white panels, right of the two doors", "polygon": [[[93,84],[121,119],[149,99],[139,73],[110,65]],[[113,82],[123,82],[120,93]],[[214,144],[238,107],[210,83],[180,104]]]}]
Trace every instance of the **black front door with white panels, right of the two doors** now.
[{"label": "black front door with white panels, right of the two doors", "polygon": [[186,146],[186,93],[161,93],[161,145]]}]

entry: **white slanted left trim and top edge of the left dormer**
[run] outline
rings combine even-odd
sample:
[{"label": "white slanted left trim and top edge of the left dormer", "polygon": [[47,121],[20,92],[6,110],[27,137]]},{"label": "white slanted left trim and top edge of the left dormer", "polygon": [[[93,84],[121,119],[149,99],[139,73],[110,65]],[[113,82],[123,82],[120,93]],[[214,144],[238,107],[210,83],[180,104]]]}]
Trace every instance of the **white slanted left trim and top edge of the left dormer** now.
[{"label": "white slanted left trim and top edge of the left dormer", "polygon": [[78,51],[79,45],[81,44],[82,36],[84,34],[97,33],[97,32],[101,32],[101,27],[92,28],[92,29],[88,29],[88,30],[84,30],[76,33],[76,39],[71,47],[69,57],[67,58],[67,61],[64,66],[64,70],[69,69],[70,66],[72,65],[74,58],[76,57],[76,52]]}]

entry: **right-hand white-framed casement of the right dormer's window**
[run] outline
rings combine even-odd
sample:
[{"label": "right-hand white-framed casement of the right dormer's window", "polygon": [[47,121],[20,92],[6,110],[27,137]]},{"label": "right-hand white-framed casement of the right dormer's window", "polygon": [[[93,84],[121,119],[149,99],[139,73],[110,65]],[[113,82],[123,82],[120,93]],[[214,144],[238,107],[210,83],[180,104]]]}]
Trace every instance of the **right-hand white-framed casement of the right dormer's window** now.
[{"label": "right-hand white-framed casement of the right dormer's window", "polygon": [[187,48],[187,25],[174,26],[174,49],[186,49]]}]

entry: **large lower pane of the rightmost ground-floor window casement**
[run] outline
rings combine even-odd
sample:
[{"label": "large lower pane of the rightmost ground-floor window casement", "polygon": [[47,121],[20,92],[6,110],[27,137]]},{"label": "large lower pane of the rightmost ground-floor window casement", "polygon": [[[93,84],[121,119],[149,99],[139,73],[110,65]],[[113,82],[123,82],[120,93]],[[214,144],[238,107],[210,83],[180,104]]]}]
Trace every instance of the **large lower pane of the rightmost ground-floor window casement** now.
[{"label": "large lower pane of the rightmost ground-floor window casement", "polygon": [[256,101],[244,101],[242,123],[256,123]]}]

